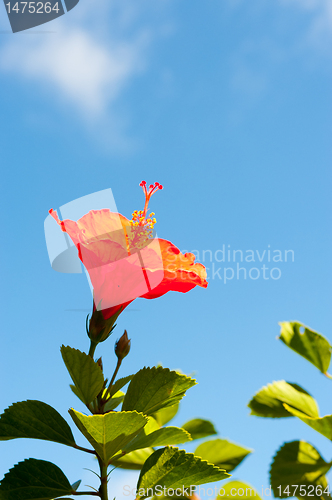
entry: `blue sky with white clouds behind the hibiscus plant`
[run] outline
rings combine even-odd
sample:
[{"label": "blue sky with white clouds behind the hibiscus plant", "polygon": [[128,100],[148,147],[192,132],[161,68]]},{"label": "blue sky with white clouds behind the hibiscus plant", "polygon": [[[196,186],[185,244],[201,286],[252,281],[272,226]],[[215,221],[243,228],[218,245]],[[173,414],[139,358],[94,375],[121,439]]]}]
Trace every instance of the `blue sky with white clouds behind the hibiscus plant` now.
[{"label": "blue sky with white clouds behind the hibiscus plant", "polygon": [[[121,315],[98,348],[106,369],[127,328],[122,375],[159,362],[195,372],[175,423],[209,418],[221,437],[253,448],[234,478],[258,489],[285,441],[306,439],[330,460],[330,443],[302,422],[249,417],[246,407],[261,386],[286,379],[331,413],[331,381],[276,340],[286,320],[332,340],[329,0],[81,0],[38,33],[8,33],[3,8],[0,30],[1,411],[25,399],[68,421],[70,406],[83,411],[59,347],[88,348],[87,312],[72,309],[88,311],[92,299],[83,274],[52,270],[44,219],[106,188],[130,216],[145,179],[164,185],[151,203],[156,229],[181,250],[201,260],[223,245],[293,250],[294,262],[273,264],[280,279],[225,284],[216,271],[236,263],[205,260],[206,290],[138,299]],[[247,263],[247,273],[261,266]],[[1,446],[0,476],[32,456],[95,484],[82,471],[94,464],[74,450]],[[121,498],[128,481],[135,474],[119,473],[110,491]]]}]

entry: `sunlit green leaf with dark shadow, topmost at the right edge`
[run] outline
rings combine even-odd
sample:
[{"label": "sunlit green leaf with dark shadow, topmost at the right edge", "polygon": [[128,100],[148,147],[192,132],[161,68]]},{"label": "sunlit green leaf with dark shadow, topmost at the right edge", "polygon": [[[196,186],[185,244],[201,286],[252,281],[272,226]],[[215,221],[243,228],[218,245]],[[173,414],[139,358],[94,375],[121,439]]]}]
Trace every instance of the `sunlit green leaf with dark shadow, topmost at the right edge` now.
[{"label": "sunlit green leaf with dark shadow, topmost at the right edge", "polygon": [[[279,339],[290,349],[326,373],[331,360],[331,344],[320,333],[297,321],[285,321],[281,326]],[[301,333],[301,328],[304,332]]]}]

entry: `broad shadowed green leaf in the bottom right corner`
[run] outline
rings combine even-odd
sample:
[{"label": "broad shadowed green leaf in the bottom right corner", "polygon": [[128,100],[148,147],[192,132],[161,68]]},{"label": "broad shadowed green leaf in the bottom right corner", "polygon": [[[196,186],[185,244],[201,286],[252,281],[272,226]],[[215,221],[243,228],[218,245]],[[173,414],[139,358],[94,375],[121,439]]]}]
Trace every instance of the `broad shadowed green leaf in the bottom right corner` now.
[{"label": "broad shadowed green leaf in the bottom right corner", "polygon": [[[308,486],[319,484],[330,468],[331,464],[325,462],[318,451],[306,441],[285,443],[275,455],[271,465],[270,483],[274,496],[307,498]],[[301,495],[301,485],[304,487],[302,488],[304,495]],[[285,492],[287,486],[288,494],[287,490]],[[308,495],[308,498],[314,497]]]}]

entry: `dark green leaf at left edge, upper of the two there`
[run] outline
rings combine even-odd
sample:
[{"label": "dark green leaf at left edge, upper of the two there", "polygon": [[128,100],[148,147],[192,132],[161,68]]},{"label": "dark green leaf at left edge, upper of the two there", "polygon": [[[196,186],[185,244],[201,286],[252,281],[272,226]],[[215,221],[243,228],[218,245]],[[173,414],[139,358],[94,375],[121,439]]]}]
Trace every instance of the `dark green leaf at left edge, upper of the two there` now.
[{"label": "dark green leaf at left edge, upper of the two there", "polygon": [[76,446],[71,429],[52,406],[41,401],[21,401],[0,416],[0,441],[34,438]]}]

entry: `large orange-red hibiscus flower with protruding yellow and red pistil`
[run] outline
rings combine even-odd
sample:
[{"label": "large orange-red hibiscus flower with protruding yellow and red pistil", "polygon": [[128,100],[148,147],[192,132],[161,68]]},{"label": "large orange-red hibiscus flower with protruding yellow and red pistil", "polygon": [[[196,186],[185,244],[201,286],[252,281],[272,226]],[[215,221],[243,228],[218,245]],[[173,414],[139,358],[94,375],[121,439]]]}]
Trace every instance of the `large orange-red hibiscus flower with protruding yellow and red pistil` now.
[{"label": "large orange-red hibiscus flower with protruding yellow and red pistil", "polygon": [[77,222],[50,215],[78,250],[93,286],[94,310],[104,320],[117,317],[138,297],[155,299],[169,291],[186,293],[195,286],[207,287],[206,270],[192,253],[182,254],[168,240],[154,237],[154,213],[148,214],[151,196],[163,186],[156,182],[145,195],[144,209],[129,220],[109,209],[90,210]]}]

